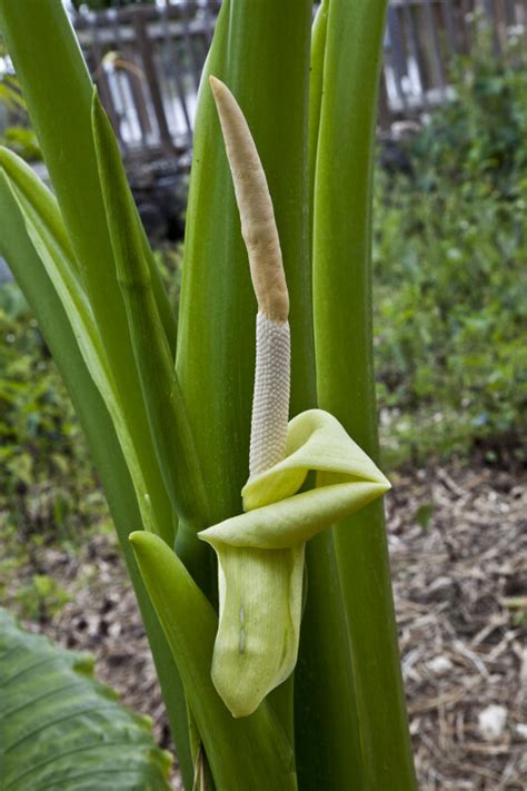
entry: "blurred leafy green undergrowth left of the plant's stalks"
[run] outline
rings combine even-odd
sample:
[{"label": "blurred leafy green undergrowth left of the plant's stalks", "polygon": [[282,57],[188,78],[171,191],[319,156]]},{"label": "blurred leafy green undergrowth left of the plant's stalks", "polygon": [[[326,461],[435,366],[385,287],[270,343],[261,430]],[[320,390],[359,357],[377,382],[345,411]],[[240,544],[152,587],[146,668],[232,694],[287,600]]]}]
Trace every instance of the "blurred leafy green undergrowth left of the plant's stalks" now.
[{"label": "blurred leafy green undergrowth left of the plant's stalks", "polygon": [[[18,286],[0,286],[0,522],[66,538],[106,513],[62,380]],[[9,532],[9,531],[7,531]],[[4,535],[7,534],[4,533]]]}]

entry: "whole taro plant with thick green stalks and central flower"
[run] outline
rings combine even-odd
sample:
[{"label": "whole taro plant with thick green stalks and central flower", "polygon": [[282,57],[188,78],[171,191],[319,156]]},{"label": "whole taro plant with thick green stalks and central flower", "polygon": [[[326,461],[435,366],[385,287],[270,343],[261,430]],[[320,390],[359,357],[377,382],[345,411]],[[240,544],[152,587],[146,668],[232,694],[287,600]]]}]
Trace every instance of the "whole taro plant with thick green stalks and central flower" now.
[{"label": "whole taro plant with thick green stalks and central flower", "polygon": [[371,461],[385,4],[322,2],[311,30],[309,0],[223,0],[177,326],[60,0],[0,0],[54,190],[1,151],[0,249],[86,431],[189,789],[415,788]]}]

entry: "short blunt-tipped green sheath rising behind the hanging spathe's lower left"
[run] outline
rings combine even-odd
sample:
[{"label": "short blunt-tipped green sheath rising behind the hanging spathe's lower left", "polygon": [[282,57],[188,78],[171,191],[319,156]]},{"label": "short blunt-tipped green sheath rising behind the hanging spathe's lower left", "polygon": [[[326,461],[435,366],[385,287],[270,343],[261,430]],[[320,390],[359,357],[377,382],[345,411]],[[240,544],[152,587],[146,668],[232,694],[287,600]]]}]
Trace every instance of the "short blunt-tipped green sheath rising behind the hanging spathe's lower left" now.
[{"label": "short blunt-tipped green sheath rising behind the hanging spathe's lower left", "polygon": [[294,791],[294,757],[281,725],[262,704],[235,720],[210,666],[218,619],[178,556],[158,537],[130,536],[147,591],[179,669],[218,791]]}]

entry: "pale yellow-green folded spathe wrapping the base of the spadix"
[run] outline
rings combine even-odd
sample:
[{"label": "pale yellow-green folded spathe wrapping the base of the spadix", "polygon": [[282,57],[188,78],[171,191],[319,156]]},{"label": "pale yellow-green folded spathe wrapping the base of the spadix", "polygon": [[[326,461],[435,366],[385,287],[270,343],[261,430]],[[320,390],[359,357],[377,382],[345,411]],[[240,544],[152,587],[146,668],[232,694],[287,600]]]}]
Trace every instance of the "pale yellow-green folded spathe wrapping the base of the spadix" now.
[{"label": "pale yellow-green folded spathe wrapping the base of the spadix", "polygon": [[[315,488],[297,494],[310,471]],[[212,680],[235,716],[295,668],[306,541],[389,486],[335,417],[311,409],[289,423],[286,458],[249,478],[246,513],[199,533],[219,561]]]}]

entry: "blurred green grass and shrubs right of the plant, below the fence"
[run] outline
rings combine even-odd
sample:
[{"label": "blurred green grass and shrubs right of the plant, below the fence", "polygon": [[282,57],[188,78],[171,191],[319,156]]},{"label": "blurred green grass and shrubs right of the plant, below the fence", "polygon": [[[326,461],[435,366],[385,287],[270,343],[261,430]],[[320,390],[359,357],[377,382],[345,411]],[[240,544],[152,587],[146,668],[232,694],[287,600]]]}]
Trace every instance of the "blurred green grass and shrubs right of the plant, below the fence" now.
[{"label": "blurred green grass and shrubs right of the plant, below the fence", "polygon": [[527,406],[527,69],[477,56],[378,171],[377,365],[391,461],[515,444]]}]

